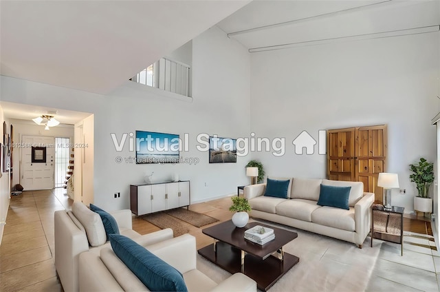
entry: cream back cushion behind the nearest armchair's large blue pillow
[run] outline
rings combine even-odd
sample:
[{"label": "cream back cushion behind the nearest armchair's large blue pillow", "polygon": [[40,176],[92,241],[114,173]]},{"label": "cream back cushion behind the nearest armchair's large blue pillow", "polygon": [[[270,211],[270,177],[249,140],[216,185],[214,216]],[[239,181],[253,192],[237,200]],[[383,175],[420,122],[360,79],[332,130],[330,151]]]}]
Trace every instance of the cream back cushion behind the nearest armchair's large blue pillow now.
[{"label": "cream back cushion behind the nearest armchair's large blue pillow", "polygon": [[100,258],[124,291],[149,291],[110,247],[101,249]]}]

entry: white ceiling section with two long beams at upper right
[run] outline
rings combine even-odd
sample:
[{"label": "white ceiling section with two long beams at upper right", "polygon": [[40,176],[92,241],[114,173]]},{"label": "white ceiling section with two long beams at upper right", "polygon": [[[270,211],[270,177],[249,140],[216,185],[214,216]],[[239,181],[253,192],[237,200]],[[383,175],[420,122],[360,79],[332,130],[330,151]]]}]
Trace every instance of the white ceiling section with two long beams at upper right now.
[{"label": "white ceiling section with two long beams at upper right", "polygon": [[440,1],[254,0],[218,26],[250,52],[439,33]]}]

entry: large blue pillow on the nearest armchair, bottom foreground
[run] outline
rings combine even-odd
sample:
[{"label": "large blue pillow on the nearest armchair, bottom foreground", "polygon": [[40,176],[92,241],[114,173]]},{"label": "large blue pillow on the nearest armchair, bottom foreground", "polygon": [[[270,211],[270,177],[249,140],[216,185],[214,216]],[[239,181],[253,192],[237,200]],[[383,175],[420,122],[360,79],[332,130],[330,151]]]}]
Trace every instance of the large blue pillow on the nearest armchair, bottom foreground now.
[{"label": "large blue pillow on the nearest armchair, bottom foreground", "polygon": [[126,236],[110,235],[111,248],[150,291],[188,291],[179,271]]}]

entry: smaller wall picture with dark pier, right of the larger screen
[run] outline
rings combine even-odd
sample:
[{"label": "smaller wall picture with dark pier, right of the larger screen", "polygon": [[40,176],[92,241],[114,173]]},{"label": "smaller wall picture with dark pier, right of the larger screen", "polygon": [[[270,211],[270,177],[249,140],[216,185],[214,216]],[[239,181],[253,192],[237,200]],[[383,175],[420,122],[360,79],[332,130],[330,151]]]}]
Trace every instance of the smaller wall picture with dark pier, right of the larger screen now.
[{"label": "smaller wall picture with dark pier, right of the larger screen", "polygon": [[236,163],[236,139],[209,137],[209,163]]}]

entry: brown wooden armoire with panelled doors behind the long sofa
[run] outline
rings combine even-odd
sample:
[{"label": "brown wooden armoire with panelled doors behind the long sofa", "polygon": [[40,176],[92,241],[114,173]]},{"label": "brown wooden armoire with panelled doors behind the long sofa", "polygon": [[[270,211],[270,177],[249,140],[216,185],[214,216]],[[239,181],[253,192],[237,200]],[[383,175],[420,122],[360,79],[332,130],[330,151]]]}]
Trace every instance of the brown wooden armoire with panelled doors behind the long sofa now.
[{"label": "brown wooden armoire with panelled doors behind the long sofa", "polygon": [[386,125],[327,130],[327,176],[364,183],[364,191],[382,202],[377,176],[386,172]]}]

